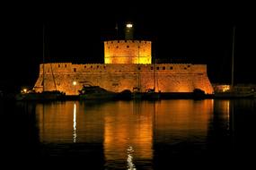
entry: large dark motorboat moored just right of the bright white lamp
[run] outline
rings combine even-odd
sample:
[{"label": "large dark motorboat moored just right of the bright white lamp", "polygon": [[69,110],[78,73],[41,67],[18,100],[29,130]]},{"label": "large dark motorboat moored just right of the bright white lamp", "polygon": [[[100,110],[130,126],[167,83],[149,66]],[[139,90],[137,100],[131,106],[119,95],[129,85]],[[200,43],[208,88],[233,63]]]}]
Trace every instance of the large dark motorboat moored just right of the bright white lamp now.
[{"label": "large dark motorboat moored just right of the bright white lamp", "polygon": [[100,86],[84,85],[79,92],[79,99],[81,100],[95,100],[95,99],[115,99],[117,93],[103,89]]}]

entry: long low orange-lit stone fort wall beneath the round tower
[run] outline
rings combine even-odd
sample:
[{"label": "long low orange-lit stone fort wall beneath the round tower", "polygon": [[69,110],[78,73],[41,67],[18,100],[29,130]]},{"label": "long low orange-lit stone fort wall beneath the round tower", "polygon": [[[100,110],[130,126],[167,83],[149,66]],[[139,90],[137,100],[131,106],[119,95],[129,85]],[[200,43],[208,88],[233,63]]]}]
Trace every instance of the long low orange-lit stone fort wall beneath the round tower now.
[{"label": "long low orange-lit stone fort wall beneath the round tower", "polygon": [[[44,65],[44,69],[43,69]],[[43,70],[45,75],[43,76]],[[121,92],[153,89],[161,92],[192,92],[202,89],[208,94],[213,88],[207,78],[206,64],[40,64],[40,75],[34,89],[60,90],[77,95],[84,84]],[[77,84],[74,86],[73,81]]]}]

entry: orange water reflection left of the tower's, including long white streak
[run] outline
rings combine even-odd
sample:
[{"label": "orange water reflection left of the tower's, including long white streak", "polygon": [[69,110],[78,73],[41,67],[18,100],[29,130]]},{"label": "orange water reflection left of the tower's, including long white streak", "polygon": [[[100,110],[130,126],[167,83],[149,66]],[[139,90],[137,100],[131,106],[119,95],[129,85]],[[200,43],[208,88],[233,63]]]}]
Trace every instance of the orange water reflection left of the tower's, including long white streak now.
[{"label": "orange water reflection left of the tower's, including long white streak", "polygon": [[59,102],[36,106],[40,142],[71,143],[101,142],[103,120],[101,112],[89,107],[87,113],[79,102]]}]

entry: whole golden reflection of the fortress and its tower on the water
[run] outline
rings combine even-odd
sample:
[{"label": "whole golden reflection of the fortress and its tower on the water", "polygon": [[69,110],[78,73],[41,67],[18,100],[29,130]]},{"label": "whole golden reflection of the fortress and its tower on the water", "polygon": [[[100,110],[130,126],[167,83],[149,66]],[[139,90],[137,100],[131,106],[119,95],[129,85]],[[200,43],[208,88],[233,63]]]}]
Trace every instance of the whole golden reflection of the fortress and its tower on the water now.
[{"label": "whole golden reflection of the fortress and its tower on the water", "polygon": [[153,160],[154,143],[204,142],[213,107],[211,99],[70,101],[38,104],[36,114],[41,142],[102,143],[106,166],[120,161],[135,169]]}]

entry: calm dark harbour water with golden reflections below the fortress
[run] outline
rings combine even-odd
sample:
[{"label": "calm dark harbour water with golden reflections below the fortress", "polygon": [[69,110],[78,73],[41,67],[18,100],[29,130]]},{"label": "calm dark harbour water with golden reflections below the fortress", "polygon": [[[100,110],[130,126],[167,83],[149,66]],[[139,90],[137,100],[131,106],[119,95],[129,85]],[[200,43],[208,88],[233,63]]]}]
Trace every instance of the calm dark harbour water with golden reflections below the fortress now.
[{"label": "calm dark harbour water with golden reflections below the fortress", "polygon": [[255,99],[2,101],[2,156],[84,169],[250,163],[255,108]]}]

